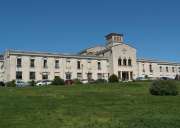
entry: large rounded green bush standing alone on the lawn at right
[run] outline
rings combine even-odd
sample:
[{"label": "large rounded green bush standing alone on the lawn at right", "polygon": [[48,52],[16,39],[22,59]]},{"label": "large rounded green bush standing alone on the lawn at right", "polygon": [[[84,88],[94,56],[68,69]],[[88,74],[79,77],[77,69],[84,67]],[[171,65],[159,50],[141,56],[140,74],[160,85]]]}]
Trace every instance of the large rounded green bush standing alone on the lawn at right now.
[{"label": "large rounded green bush standing alone on the lawn at right", "polygon": [[149,89],[152,95],[178,95],[178,89],[174,81],[154,81]]}]

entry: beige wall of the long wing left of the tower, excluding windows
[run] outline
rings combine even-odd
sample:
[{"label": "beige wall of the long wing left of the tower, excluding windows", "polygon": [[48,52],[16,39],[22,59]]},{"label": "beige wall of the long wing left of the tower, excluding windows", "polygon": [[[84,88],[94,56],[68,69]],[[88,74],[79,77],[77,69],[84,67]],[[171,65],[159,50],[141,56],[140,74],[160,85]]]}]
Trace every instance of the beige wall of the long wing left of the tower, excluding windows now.
[{"label": "beige wall of the long wing left of the tower, excluding windows", "polygon": [[[22,67],[17,68],[17,58],[22,59]],[[48,68],[43,68],[43,59],[41,56],[33,56],[35,59],[35,67],[30,67],[31,56],[10,55],[7,59],[6,79],[7,81],[16,79],[16,71],[21,71],[23,74],[23,81],[30,81],[29,73],[36,73],[36,81],[42,80],[42,73],[47,73],[49,80],[53,80],[55,76],[60,76],[66,79],[66,73],[71,73],[71,79],[77,78],[77,73],[82,73],[82,79],[87,79],[87,73],[92,73],[92,78],[97,79],[97,74],[104,74],[104,78],[108,79],[107,60],[96,60],[96,59],[77,59],[77,58],[61,58],[61,57],[47,57]],[[59,69],[55,68],[55,60],[59,60]],[[70,61],[67,65],[67,61]],[[77,61],[81,62],[81,68],[77,69]],[[90,61],[90,63],[88,63]],[[98,70],[97,63],[101,62],[101,70]],[[9,64],[8,64],[9,63]]]}]

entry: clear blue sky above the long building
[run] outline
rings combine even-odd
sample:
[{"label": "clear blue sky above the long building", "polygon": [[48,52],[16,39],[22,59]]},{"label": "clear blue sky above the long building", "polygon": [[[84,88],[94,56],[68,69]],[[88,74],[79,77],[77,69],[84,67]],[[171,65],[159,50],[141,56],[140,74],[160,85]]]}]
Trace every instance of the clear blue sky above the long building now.
[{"label": "clear blue sky above the long building", "polygon": [[1,0],[0,52],[76,53],[123,33],[139,58],[180,61],[179,0]]}]

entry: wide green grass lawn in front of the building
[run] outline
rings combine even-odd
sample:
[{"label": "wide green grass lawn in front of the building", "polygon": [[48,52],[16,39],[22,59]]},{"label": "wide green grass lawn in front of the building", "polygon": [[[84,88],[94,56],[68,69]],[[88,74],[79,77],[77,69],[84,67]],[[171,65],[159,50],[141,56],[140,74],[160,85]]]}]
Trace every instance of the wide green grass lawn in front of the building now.
[{"label": "wide green grass lawn in front of the building", "polygon": [[0,128],[180,128],[180,95],[149,84],[0,88]]}]

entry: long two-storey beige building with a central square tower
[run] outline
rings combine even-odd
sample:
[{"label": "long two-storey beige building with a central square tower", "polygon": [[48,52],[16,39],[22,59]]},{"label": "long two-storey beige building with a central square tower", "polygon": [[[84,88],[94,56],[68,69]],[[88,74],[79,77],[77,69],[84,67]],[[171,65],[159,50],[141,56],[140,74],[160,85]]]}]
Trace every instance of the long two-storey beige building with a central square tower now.
[{"label": "long two-storey beige building with a central square tower", "polygon": [[0,56],[0,81],[106,79],[116,74],[120,81],[138,77],[174,79],[180,63],[137,59],[136,49],[124,43],[123,35],[106,36],[105,46],[88,48],[76,55],[7,50]]}]

